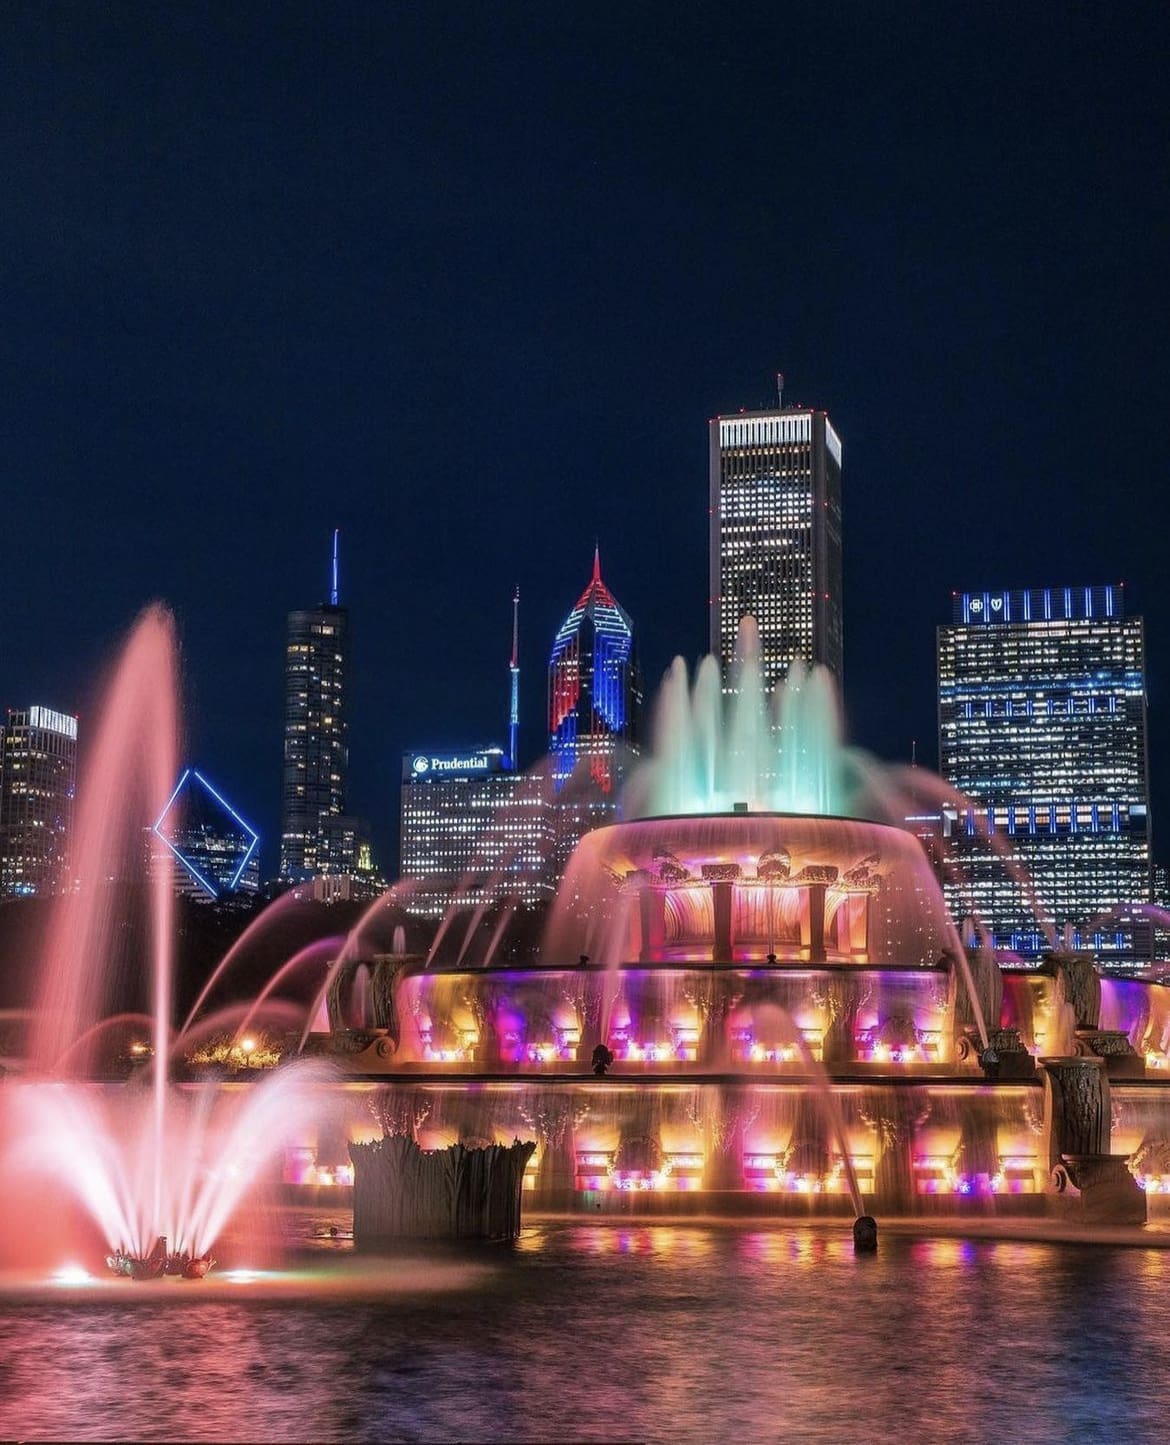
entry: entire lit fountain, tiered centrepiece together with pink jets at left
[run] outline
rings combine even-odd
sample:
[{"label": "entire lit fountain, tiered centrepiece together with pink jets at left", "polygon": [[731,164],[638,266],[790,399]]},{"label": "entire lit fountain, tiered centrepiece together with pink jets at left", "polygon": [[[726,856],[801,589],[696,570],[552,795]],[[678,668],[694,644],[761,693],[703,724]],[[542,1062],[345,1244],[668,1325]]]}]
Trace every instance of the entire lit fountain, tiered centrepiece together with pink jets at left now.
[{"label": "entire lit fountain, tiered centrepiece together with pink jets at left", "polygon": [[[170,792],[173,659],[152,608],[82,779],[81,883],[45,944],[22,1066],[0,1081],[17,1257],[43,1181],[131,1277],[201,1277],[277,1175],[292,1198],[352,1198],[360,1244],[507,1237],[521,1202],[1131,1225],[1170,1192],[1170,990],[1104,980],[1079,954],[1028,971],[974,946],[898,779],[842,746],[829,679],[797,668],[766,696],[751,627],[734,695],[712,659],[693,681],[672,668],[624,821],[578,845],[537,962],[442,964],[409,919],[378,951],[391,890],[261,1000],[208,1017],[217,970],[176,1029],[156,880],[153,1006],[134,1020],[149,1062],[97,1079],[126,1019],[103,993],[118,919],[94,883]],[[276,984],[302,965],[321,981],[292,1013]],[[243,1036],[261,1003],[295,1020],[277,1068],[175,1069],[212,1027]]]}]

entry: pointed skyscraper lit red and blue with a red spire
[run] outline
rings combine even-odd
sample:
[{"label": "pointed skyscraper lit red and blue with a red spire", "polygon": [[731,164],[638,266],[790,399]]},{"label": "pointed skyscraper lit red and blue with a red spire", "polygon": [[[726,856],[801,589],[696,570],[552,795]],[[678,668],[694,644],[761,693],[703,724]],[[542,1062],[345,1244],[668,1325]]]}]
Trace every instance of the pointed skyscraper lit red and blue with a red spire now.
[{"label": "pointed skyscraper lit red and blue with a red spire", "polygon": [[627,760],[638,750],[641,676],[634,624],[594,575],[549,659],[549,753],[556,793],[558,877],[576,841],[612,822]]}]

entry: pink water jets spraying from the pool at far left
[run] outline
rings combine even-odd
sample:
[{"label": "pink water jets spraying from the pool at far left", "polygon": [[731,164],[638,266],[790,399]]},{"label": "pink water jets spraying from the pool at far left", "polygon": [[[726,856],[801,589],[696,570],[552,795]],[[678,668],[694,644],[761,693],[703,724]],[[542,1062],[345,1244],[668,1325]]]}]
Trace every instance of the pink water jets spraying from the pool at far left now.
[{"label": "pink water jets spraying from the pool at far left", "polygon": [[[302,1064],[237,1090],[175,1082],[170,1062],[183,1039],[170,1020],[173,902],[170,879],[156,871],[142,1020],[149,1042],[134,1046],[143,1065],[129,1082],[94,1078],[103,1042],[126,1022],[110,1013],[110,991],[124,983],[126,918],[124,896],[108,883],[146,867],[143,838],[173,788],[176,738],[173,624],[150,607],[117,663],[82,775],[75,886],[58,900],[45,941],[25,1068],[0,1090],[9,1178],[29,1188],[55,1181],[100,1234],[110,1269],[131,1279],[207,1274],[257,1170],[293,1121],[311,1117],[324,1072]],[[43,1224],[29,1214],[25,1194],[7,1189],[0,1238],[22,1259]]]}]

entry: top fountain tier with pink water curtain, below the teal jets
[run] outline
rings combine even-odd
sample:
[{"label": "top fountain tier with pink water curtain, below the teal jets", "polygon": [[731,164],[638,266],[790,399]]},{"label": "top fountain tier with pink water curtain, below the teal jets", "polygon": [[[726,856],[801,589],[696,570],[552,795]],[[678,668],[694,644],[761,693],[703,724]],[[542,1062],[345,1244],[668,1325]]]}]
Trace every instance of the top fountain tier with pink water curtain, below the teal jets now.
[{"label": "top fountain tier with pink water curtain, below the teal jets", "polygon": [[796,814],[599,828],[558,894],[549,954],[605,964],[932,967],[958,939],[917,840]]}]

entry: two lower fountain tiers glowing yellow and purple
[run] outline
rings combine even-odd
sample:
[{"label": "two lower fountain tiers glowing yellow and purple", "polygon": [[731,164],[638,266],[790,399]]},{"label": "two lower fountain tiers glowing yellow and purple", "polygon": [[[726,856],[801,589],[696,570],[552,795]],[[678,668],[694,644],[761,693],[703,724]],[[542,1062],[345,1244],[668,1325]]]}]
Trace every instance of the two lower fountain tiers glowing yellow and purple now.
[{"label": "two lower fountain tiers glowing yellow and purple", "polygon": [[[536,1207],[849,1214],[852,1170],[881,1214],[1062,1215],[1080,1198],[1065,1153],[1121,1156],[1141,1217],[1170,1199],[1163,1078],[1132,1049],[1083,1040],[1041,1061],[1011,1030],[981,1066],[950,962],[374,967],[394,977],[397,1017],[352,1055],[341,1133],[433,1149],[533,1139]],[[1053,1017],[1069,1007],[1059,975],[1007,984],[1008,1001],[1027,988]],[[1151,993],[1164,1012],[1167,990]],[[597,1078],[602,1038],[617,1059]],[[1098,1090],[1092,1149],[1053,1117],[1069,1068],[1069,1097],[1080,1068]]]}]

